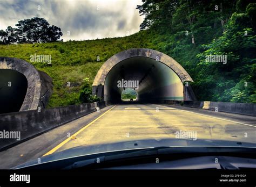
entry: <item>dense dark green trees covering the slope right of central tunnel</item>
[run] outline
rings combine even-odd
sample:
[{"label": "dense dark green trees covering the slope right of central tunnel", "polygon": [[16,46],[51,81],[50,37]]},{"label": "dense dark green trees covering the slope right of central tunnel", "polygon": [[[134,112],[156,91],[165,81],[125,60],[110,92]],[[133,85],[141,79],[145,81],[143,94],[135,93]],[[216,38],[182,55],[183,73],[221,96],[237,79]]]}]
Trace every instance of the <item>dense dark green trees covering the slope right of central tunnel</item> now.
[{"label": "dense dark green trees covering the slope right of central tunnel", "polygon": [[[199,100],[256,103],[256,4],[253,1],[148,0],[140,25],[163,35],[158,50],[192,76]],[[227,55],[227,63],[206,62]]]}]

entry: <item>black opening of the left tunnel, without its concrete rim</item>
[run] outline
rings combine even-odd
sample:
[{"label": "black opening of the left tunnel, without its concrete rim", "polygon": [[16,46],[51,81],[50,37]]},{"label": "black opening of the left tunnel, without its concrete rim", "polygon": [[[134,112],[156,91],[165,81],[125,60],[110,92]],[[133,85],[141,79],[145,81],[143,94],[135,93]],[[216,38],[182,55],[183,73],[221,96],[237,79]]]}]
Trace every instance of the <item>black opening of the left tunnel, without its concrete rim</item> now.
[{"label": "black opening of the left tunnel, without its concrete rim", "polygon": [[0,113],[18,112],[27,89],[28,81],[22,73],[0,69]]}]

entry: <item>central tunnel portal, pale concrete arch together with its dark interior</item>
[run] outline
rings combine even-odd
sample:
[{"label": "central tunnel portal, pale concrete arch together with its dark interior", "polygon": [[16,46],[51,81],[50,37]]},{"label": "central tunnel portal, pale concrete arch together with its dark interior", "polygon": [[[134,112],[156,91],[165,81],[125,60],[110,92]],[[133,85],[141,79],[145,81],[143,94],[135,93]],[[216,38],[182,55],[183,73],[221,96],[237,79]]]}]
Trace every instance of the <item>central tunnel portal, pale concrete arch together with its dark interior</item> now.
[{"label": "central tunnel portal, pale concrete arch together with its dark interior", "polygon": [[[148,48],[132,48],[110,57],[99,69],[92,94],[102,100],[120,102],[120,79],[138,80],[139,100],[196,100],[187,71],[172,57]],[[173,82],[174,81],[174,82]]]}]

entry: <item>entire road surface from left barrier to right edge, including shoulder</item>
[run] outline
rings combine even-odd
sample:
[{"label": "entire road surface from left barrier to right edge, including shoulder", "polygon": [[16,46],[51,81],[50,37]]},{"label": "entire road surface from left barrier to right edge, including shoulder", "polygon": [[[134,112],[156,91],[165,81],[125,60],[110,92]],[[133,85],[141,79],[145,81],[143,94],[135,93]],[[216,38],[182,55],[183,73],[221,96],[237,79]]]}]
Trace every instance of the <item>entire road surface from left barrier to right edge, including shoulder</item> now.
[{"label": "entire road surface from left barrier to right edge, including shoulder", "polygon": [[218,139],[256,143],[256,117],[156,104],[110,105],[0,152],[0,169],[81,145],[139,139]]}]

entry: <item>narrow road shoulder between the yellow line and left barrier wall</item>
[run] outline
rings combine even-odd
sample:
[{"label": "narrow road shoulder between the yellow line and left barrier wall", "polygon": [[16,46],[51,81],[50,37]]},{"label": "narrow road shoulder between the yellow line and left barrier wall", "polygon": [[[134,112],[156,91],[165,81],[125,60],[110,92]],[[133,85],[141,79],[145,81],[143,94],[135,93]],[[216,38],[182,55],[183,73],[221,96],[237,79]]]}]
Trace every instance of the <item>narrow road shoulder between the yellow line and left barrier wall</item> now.
[{"label": "narrow road shoulder between the yellow line and left barrier wall", "polygon": [[0,152],[0,169],[9,169],[18,164],[42,157],[46,152],[59,145],[60,142],[63,142],[68,136],[87,126],[87,124],[111,109],[111,107],[112,105],[106,106],[100,109],[99,112],[90,113]]}]

